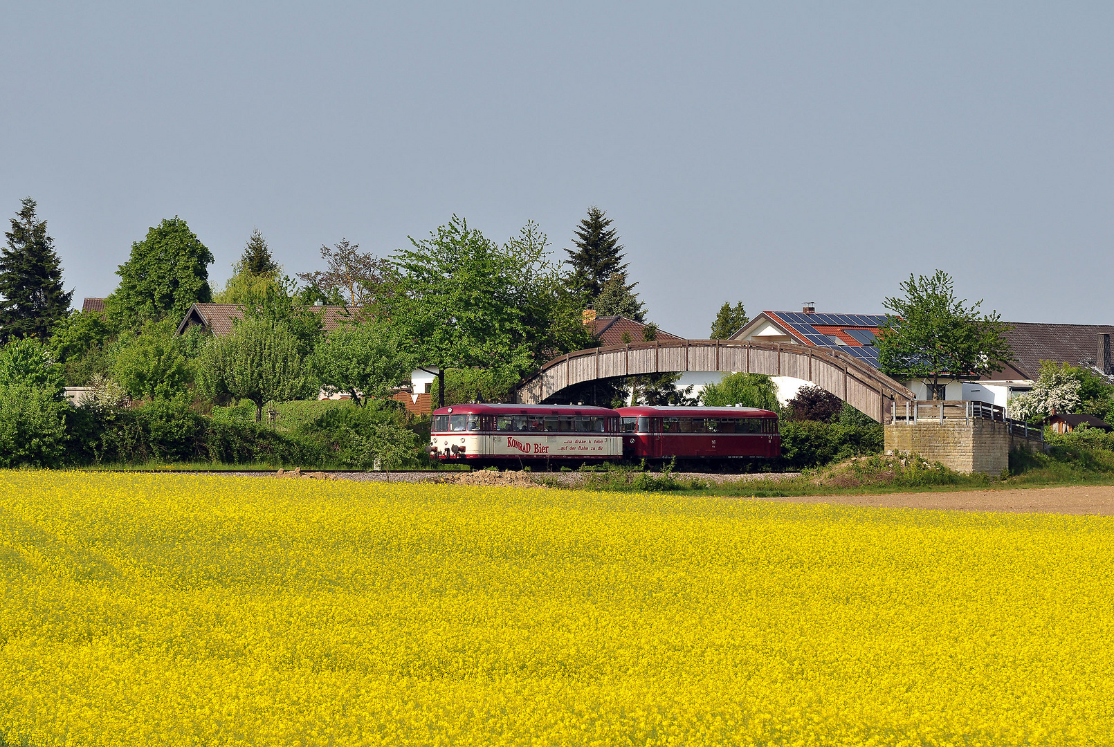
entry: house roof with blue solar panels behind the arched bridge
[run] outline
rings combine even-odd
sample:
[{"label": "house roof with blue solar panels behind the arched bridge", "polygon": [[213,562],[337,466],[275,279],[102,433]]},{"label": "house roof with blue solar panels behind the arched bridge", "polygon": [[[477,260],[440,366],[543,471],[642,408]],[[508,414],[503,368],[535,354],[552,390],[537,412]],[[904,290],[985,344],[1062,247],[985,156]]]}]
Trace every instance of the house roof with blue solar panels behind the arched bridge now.
[{"label": "house roof with blue solar panels behind the arched bridge", "polygon": [[823,314],[814,306],[799,312],[762,312],[732,340],[834,347],[878,367],[878,335],[886,314]]}]

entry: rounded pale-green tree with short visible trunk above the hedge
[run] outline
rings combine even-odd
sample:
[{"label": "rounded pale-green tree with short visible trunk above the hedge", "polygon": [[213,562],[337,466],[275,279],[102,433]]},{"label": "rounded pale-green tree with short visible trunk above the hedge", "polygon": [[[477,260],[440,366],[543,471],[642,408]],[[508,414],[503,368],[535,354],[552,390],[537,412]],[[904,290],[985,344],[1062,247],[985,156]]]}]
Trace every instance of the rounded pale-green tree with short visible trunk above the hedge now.
[{"label": "rounded pale-green tree with short visible trunk above the hedge", "polygon": [[267,402],[310,396],[314,389],[297,340],[281,322],[263,317],[245,317],[232,333],[214,337],[198,358],[197,374],[206,396],[254,402],[256,422]]}]

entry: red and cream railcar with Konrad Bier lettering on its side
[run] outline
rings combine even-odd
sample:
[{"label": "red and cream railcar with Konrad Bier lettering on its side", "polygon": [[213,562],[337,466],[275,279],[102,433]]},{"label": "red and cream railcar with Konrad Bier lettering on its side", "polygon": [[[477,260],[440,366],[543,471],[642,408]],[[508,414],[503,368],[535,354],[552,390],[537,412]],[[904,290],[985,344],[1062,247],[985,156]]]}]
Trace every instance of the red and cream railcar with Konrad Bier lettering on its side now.
[{"label": "red and cream railcar with Konrad Bier lettering on its side", "polygon": [[473,463],[619,459],[619,414],[585,405],[440,407],[433,411],[429,452],[434,459]]}]

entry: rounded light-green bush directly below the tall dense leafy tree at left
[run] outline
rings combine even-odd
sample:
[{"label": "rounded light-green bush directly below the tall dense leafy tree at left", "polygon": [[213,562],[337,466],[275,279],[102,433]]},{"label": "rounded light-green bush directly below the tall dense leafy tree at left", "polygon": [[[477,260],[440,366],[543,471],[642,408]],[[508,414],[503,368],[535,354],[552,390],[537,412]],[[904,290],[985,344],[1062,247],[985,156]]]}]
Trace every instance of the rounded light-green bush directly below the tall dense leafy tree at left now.
[{"label": "rounded light-green bush directly below the tall dense leafy tree at left", "polygon": [[185,394],[194,380],[186,344],[175,335],[173,320],[147,322],[125,332],[111,346],[109,372],[135,399],[166,400]]}]

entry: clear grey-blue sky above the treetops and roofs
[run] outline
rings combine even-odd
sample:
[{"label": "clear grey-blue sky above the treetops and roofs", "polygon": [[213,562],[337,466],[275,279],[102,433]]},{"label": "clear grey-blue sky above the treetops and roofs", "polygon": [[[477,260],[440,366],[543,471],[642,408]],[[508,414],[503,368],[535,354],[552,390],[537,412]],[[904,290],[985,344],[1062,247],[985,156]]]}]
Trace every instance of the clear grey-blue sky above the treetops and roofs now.
[{"label": "clear grey-blue sky above the treetops and roofs", "polygon": [[0,216],[39,202],[76,301],[174,215],[222,282],[253,226],[293,274],[596,204],[684,336],[936,268],[1114,322],[1114,6],[921,4],[8,2]]}]

